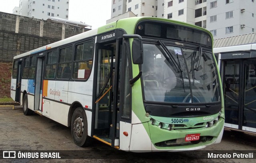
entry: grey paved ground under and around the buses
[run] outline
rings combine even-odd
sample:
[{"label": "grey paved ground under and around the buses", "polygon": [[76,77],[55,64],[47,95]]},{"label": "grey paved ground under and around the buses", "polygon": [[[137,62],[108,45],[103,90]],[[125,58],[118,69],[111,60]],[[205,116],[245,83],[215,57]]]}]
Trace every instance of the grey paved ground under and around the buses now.
[{"label": "grey paved ground under and around the buses", "polygon": [[[0,162],[89,162],[89,163],[170,163],[170,162],[228,162],[251,163],[252,159],[202,159],[208,151],[233,150],[256,151],[256,135],[225,130],[222,142],[202,151],[178,153],[130,153],[118,151],[104,143],[93,140],[90,147],[78,147],[73,143],[70,128],[40,115],[25,116],[22,107],[0,107],[1,150],[70,150],[68,155],[84,154],[80,159],[2,159]],[[229,151],[230,152],[230,151]],[[254,153],[256,158],[256,153]]]}]

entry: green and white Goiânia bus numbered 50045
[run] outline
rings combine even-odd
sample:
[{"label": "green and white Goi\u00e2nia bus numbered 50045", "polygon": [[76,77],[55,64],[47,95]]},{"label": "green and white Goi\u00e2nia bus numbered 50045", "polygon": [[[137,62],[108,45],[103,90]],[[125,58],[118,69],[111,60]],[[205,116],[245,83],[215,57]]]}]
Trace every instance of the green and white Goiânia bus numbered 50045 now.
[{"label": "green and white Goi\u00e2nia bus numbered 50045", "polygon": [[14,57],[11,97],[125,151],[220,143],[222,84],[207,30],[162,18],[118,20]]}]

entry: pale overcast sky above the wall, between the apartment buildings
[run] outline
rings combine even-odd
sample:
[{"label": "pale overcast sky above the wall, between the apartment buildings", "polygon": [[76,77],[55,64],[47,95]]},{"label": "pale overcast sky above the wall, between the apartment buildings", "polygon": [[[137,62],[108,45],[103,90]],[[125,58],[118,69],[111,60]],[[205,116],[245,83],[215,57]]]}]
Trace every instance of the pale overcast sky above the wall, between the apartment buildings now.
[{"label": "pale overcast sky above the wall, between the apartment buildings", "polygon": [[[0,12],[12,14],[20,0],[0,0]],[[68,20],[83,22],[92,29],[106,24],[111,18],[112,0],[69,0]]]}]

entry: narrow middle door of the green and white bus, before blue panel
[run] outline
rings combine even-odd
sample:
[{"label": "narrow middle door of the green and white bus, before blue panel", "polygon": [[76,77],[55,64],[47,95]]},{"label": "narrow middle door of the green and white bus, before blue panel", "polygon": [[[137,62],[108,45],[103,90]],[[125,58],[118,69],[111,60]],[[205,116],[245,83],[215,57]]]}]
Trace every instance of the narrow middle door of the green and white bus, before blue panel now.
[{"label": "narrow middle door of the green and white bus, before blue panel", "polygon": [[[35,85],[35,102],[34,102],[34,110],[42,111],[42,83],[43,83],[43,72],[44,72],[44,58],[37,58],[37,66],[36,66],[36,82]],[[42,113],[42,112],[40,112]]]}]

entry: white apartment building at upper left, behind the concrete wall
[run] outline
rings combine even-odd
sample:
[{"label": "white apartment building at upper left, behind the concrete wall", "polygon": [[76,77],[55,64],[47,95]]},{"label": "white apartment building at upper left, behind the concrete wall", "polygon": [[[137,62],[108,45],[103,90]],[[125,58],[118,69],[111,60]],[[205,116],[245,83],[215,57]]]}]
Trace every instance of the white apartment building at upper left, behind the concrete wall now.
[{"label": "white apartment building at upper left, behind the concrete wall", "polygon": [[47,20],[50,17],[68,19],[69,0],[20,0],[12,13]]}]

